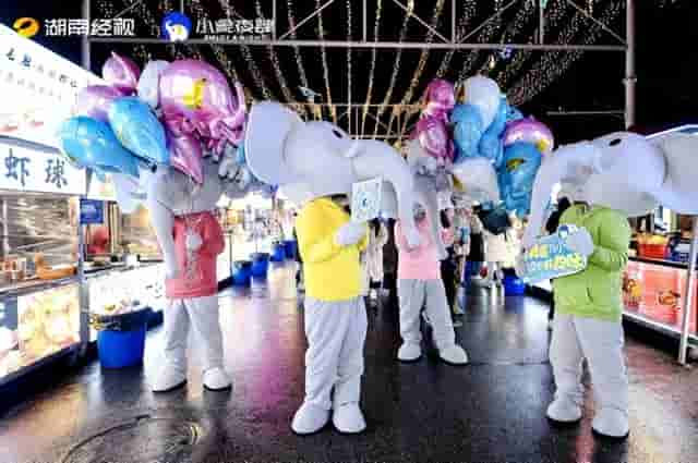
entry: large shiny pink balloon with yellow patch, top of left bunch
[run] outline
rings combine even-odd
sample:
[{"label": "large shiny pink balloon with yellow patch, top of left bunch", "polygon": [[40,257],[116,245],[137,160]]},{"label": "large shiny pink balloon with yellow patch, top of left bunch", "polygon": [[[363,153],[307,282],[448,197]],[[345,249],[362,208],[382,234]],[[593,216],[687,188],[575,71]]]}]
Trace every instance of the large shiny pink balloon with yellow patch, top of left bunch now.
[{"label": "large shiny pink balloon with yellow patch, top of left bunch", "polygon": [[[228,80],[216,68],[197,60],[170,64],[160,77],[160,106],[166,125],[176,134],[197,133],[214,141],[238,144],[244,130],[244,93],[236,84],[232,95]],[[207,142],[208,143],[208,142]]]}]

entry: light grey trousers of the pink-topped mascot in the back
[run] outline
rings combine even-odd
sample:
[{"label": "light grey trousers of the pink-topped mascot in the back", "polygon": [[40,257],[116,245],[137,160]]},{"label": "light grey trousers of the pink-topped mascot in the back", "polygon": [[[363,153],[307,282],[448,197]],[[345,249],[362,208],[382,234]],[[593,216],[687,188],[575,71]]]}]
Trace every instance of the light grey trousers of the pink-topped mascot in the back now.
[{"label": "light grey trousers of the pink-topped mascot in the back", "polygon": [[436,349],[443,351],[456,343],[443,280],[400,279],[397,281],[397,293],[400,301],[400,336],[404,342],[419,344],[422,341],[420,315],[426,303],[426,315],[432,324]]}]

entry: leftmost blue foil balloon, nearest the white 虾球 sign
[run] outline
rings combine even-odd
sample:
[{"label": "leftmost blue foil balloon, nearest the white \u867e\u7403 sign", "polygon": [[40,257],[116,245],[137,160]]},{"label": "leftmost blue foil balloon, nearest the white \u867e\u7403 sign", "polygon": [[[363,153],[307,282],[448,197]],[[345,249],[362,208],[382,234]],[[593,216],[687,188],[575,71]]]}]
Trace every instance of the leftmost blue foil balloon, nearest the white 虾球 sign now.
[{"label": "leftmost blue foil balloon, nearest the white \u867e\u7403 sign", "polygon": [[83,168],[139,176],[139,161],[117,139],[111,127],[84,115],[63,122],[58,131],[62,151]]}]

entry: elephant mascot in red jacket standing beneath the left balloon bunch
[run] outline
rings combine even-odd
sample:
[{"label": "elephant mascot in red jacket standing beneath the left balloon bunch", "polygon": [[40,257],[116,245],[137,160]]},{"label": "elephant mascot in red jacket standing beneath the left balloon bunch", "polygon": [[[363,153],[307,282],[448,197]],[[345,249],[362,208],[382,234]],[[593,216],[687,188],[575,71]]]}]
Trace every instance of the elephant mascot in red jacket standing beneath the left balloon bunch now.
[{"label": "elephant mascot in red jacket standing beneath the left balloon bunch", "polygon": [[[237,181],[244,169],[226,156],[216,163],[204,158],[201,185],[168,167],[141,170],[141,181],[116,175],[120,206],[148,208],[166,268],[165,358],[152,385],[167,392],[186,382],[186,342],[190,329],[202,354],[203,385],[209,390],[231,386],[224,369],[224,345],[218,321],[216,258],[224,251],[222,230],[214,215],[221,195],[241,197],[246,185]],[[144,194],[137,191],[143,190]]]}]

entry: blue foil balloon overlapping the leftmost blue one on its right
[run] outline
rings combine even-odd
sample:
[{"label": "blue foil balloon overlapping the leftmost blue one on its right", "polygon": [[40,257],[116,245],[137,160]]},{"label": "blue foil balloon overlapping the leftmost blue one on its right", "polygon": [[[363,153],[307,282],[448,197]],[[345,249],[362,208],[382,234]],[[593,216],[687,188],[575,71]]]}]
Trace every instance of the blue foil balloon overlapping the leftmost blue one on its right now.
[{"label": "blue foil balloon overlapping the leftmost blue one on its right", "polygon": [[151,107],[136,97],[123,97],[109,107],[109,124],[121,144],[149,163],[169,165],[165,129]]}]

